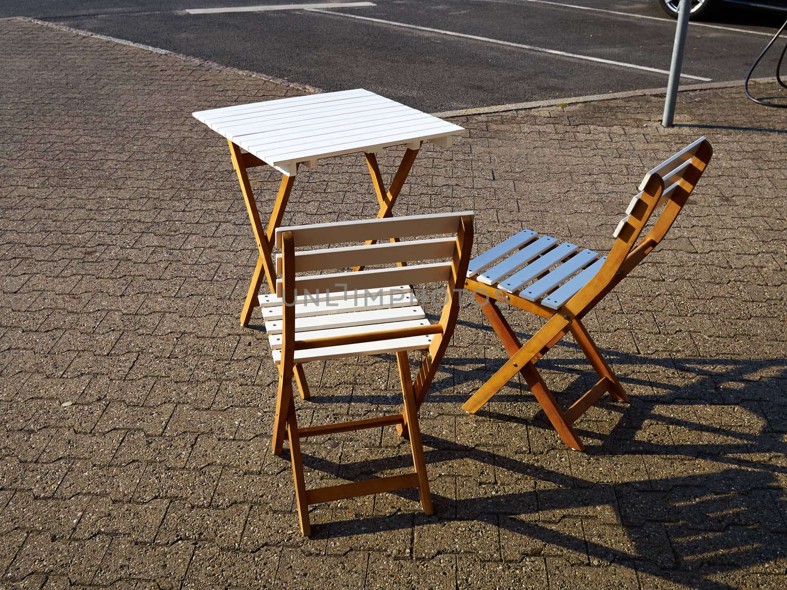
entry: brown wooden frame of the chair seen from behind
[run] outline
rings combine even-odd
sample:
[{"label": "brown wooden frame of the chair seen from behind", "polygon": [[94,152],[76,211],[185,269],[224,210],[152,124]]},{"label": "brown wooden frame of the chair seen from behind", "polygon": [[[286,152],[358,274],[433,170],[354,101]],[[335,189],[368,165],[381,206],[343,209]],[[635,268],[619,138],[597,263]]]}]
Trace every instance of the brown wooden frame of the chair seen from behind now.
[{"label": "brown wooden frame of the chair seen from behind", "polygon": [[[423,219],[425,222],[434,219],[434,216],[419,217],[427,218]],[[397,229],[403,230],[402,233],[396,237],[419,235],[417,233],[419,229],[417,227],[414,228],[415,223],[409,222],[409,219],[415,218],[401,217],[386,219],[386,225],[391,227],[396,226]],[[452,219],[456,219],[456,222],[454,222],[456,223],[456,229],[455,232],[453,232],[456,234],[456,238],[453,245],[453,255],[451,256],[450,264],[445,265],[446,297],[438,323],[407,329],[317,337],[305,340],[298,340],[296,337],[295,303],[296,297],[301,294],[302,288],[299,286],[299,281],[306,282],[313,280],[324,282],[327,279],[324,278],[325,275],[316,275],[316,277],[307,279],[297,278],[296,271],[298,259],[296,257],[295,248],[296,245],[302,245],[297,243],[299,235],[297,230],[299,228],[281,228],[276,232],[277,245],[282,249],[282,254],[279,258],[282,268],[282,278],[276,283],[276,292],[282,297],[282,346],[279,361],[279,387],[276,396],[272,449],[275,455],[280,455],[283,452],[283,441],[285,437],[290,443],[290,460],[295,482],[298,518],[301,524],[301,531],[306,536],[311,534],[309,505],[315,503],[417,487],[423,511],[426,514],[432,513],[433,508],[429,491],[429,481],[427,478],[426,462],[423,457],[423,446],[421,444],[421,435],[418,425],[418,409],[420,405],[423,404],[427,389],[434,380],[434,375],[445,353],[445,348],[447,348],[450,337],[453,334],[456,317],[459,313],[460,293],[462,291],[459,286],[464,284],[473,238],[473,220],[471,214],[457,214],[456,216],[452,216]],[[332,225],[334,225],[334,227],[342,227],[351,223],[353,222]],[[322,227],[325,225],[327,224],[322,224]],[[377,224],[374,229],[377,230],[378,227],[382,227],[382,225]],[[423,223],[422,231],[423,235],[439,233],[430,231],[428,223]],[[378,238],[390,239],[393,237],[391,232],[387,231],[379,235],[363,236],[362,239],[364,240],[364,245],[369,245],[370,242],[375,242]],[[327,242],[310,242],[306,245],[315,245],[316,243]],[[404,251],[406,242],[402,242],[400,245],[401,249]],[[346,259],[347,256],[345,256],[345,260]],[[404,260],[397,260],[397,262],[403,261]],[[401,267],[401,271],[402,272],[398,273],[398,275],[393,278],[393,282],[382,282],[380,286],[399,284],[400,279],[405,277],[417,277],[419,268],[415,266],[406,268]],[[368,289],[371,287],[371,285],[368,284],[371,279],[368,277],[374,273],[375,271],[367,271],[365,273],[353,271],[352,273],[342,275],[344,277],[342,280],[355,279],[359,285],[362,285],[360,288]],[[383,273],[381,272],[380,274],[382,275]],[[382,280],[385,280],[385,278]],[[401,281],[401,283],[409,284],[407,280]],[[338,282],[336,284],[344,285],[345,283]],[[355,289],[359,287],[351,286],[350,288]],[[423,360],[416,374],[416,378],[413,379],[410,373],[407,350],[396,351],[398,373],[404,401],[401,414],[340,422],[325,426],[309,426],[305,428],[298,426],[292,387],[292,379],[297,375],[297,367],[299,367],[298,363],[295,361],[295,353],[297,351],[350,344],[371,344],[379,341],[390,341],[393,337],[405,338],[425,334],[433,335],[433,338],[428,348],[423,353]],[[354,481],[343,485],[332,485],[318,489],[306,489],[300,447],[301,438],[340,433],[349,430],[362,430],[379,426],[397,426],[397,430],[400,434],[408,435],[413,466],[415,468],[414,472],[411,474],[375,478],[366,481]]]}]

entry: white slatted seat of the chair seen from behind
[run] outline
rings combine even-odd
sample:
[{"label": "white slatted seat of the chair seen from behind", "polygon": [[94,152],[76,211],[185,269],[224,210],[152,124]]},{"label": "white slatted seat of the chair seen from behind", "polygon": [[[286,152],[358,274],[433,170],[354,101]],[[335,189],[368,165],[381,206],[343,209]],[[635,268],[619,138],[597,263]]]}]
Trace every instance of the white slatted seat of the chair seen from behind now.
[{"label": "white slatted seat of the chair seen from behind", "polygon": [[[323,294],[295,307],[295,341],[338,336],[371,334],[386,330],[405,330],[414,326],[428,326],[426,313],[418,303],[410,286],[381,289],[374,297],[369,293]],[[282,358],[282,298],[260,295],[260,308],[265,319],[265,331],[276,364]],[[423,350],[429,348],[433,334],[392,338],[373,343],[336,345],[308,348],[294,352],[295,363],[312,360],[338,359],[347,356],[367,356],[384,352]]]}]

